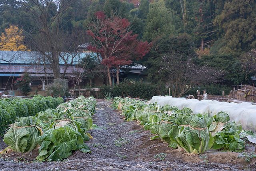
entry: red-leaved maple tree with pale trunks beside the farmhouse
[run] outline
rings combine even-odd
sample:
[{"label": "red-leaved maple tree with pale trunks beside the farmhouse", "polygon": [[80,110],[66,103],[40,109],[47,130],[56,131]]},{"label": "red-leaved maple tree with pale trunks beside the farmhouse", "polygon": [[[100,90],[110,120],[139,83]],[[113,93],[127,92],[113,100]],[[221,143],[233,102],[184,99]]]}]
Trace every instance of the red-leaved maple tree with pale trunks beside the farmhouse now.
[{"label": "red-leaved maple tree with pale trunks beside the farmhouse", "polygon": [[138,41],[138,35],[132,35],[130,22],[114,14],[109,18],[104,12],[96,12],[87,25],[87,34],[92,41],[88,50],[100,54],[101,63],[107,66],[109,84],[112,85],[110,68],[116,67],[117,84],[121,66],[129,65],[132,60],[139,60],[149,52],[148,42]]}]

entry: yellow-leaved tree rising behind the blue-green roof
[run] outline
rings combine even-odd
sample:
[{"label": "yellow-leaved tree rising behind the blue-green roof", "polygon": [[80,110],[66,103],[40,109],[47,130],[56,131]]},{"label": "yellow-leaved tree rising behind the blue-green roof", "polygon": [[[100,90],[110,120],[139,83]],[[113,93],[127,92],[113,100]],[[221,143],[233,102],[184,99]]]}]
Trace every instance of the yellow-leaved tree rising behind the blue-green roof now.
[{"label": "yellow-leaved tree rising behind the blue-green roof", "polygon": [[6,51],[30,51],[26,46],[21,44],[24,36],[22,30],[17,26],[11,26],[5,29],[5,33],[0,35],[0,50]]}]

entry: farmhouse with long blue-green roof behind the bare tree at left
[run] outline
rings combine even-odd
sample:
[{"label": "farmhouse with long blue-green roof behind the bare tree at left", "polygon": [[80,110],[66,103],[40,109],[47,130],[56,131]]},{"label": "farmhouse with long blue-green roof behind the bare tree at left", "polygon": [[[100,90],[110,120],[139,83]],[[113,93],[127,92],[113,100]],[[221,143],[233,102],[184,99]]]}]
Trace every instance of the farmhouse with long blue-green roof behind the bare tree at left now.
[{"label": "farmhouse with long blue-green roof behind the bare tree at left", "polygon": [[[32,78],[32,89],[44,90],[44,85],[54,80],[52,70],[44,68],[43,62],[36,59],[40,54],[37,52],[0,51],[0,91],[8,90],[10,95],[18,88],[14,81],[20,78],[24,72],[28,72]],[[88,53],[78,53],[75,61],[85,58]],[[69,59],[69,58],[68,58]],[[81,68],[77,68],[78,62],[68,66],[65,78],[70,80]],[[60,60],[60,74],[64,73],[64,61]],[[16,94],[15,94],[16,95]]]}]

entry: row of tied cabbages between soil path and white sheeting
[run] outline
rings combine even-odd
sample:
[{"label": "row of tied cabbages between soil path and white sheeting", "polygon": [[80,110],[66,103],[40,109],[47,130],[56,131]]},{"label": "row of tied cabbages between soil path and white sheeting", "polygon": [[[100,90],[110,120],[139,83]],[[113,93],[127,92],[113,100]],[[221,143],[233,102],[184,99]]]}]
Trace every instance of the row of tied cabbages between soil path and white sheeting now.
[{"label": "row of tied cabbages between soil path and white sheeting", "polygon": [[115,97],[114,108],[122,110],[126,121],[137,120],[145,130],[157,134],[151,140],[161,138],[173,148],[183,148],[187,153],[204,153],[207,149],[243,151],[244,141],[239,135],[242,125],[230,121],[227,113],[193,113],[189,108],[178,109],[170,105]]}]

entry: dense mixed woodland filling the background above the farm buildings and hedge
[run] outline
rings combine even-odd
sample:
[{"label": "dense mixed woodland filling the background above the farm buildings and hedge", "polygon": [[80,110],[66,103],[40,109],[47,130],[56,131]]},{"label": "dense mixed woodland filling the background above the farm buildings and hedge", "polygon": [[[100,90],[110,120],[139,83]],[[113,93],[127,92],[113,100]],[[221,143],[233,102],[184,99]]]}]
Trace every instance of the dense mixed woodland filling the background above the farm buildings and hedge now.
[{"label": "dense mixed woodland filling the background above the farm buildings and hedge", "polygon": [[[163,82],[170,84],[171,88],[181,89],[177,88],[180,85],[170,82],[172,59],[163,59],[172,55],[173,59],[178,58],[173,64],[181,62],[180,68],[185,71],[190,68],[186,60],[180,60],[180,56],[193,59],[191,68],[198,71],[193,78],[200,78],[204,71],[218,70],[222,76],[221,84],[252,85],[255,83],[252,76],[256,74],[252,58],[256,45],[255,7],[253,0],[140,0],[139,3],[130,0],[5,0],[0,4],[0,31],[16,26],[17,33],[22,32],[23,38],[20,40],[20,36],[15,36],[16,43],[40,52],[42,56],[36,61],[45,62],[45,67],[53,71],[54,78],[60,78],[59,61],[64,61],[66,71],[74,64],[73,57],[77,55],[74,53],[78,48],[88,48],[88,45],[94,47],[89,47],[90,50],[98,52],[97,62],[108,65],[102,72],[110,78],[110,72],[118,74],[120,66],[139,59],[132,53],[140,47],[130,46],[130,40],[136,38],[141,42],[154,43],[147,56],[140,55],[140,58],[144,56],[143,60],[135,61],[147,67],[150,82]],[[87,28],[91,40],[86,34]],[[184,35],[186,39],[177,41]],[[126,39],[125,46],[120,44],[123,39]],[[9,40],[15,42],[14,39]],[[143,51],[146,52],[147,48],[142,48]],[[67,60],[61,52],[72,56],[72,60]],[[162,70],[163,63],[171,70]],[[65,72],[62,78],[64,75]],[[212,76],[211,72],[206,72],[206,75]],[[218,81],[214,78],[207,80],[203,84]],[[111,79],[107,82],[112,84]],[[181,82],[188,85],[184,79]]]}]

